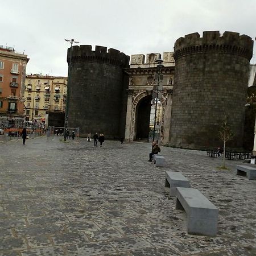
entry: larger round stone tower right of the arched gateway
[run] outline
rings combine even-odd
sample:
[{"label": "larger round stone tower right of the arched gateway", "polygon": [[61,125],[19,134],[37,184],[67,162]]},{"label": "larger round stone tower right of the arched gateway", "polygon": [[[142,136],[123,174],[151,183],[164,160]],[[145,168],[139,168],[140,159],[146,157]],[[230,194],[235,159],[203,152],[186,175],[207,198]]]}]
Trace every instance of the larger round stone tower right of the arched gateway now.
[{"label": "larger round stone tower right of the arched gateway", "polygon": [[205,31],[175,42],[175,81],[170,145],[203,149],[221,145],[218,130],[228,115],[242,147],[249,61],[253,40],[236,32]]}]

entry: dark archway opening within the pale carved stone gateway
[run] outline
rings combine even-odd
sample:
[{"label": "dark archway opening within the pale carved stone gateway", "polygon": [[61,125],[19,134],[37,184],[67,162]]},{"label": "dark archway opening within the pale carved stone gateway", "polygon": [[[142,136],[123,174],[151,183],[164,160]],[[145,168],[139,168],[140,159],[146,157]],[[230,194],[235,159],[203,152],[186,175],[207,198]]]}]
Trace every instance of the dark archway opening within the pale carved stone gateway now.
[{"label": "dark archway opening within the pale carved stone gateway", "polygon": [[150,132],[150,113],[152,96],[146,96],[138,102],[136,118],[136,140],[148,141]]}]

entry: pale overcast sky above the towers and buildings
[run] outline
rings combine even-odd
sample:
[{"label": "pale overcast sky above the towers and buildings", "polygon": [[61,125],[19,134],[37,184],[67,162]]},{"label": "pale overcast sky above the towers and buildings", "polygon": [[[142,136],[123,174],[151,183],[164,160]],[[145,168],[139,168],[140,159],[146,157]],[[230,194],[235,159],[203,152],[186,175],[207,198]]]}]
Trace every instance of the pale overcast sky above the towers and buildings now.
[{"label": "pale overcast sky above the towers and buildings", "polygon": [[27,73],[67,76],[65,38],[146,55],[209,30],[250,36],[256,63],[256,0],[2,0],[0,9],[0,45],[27,54]]}]

